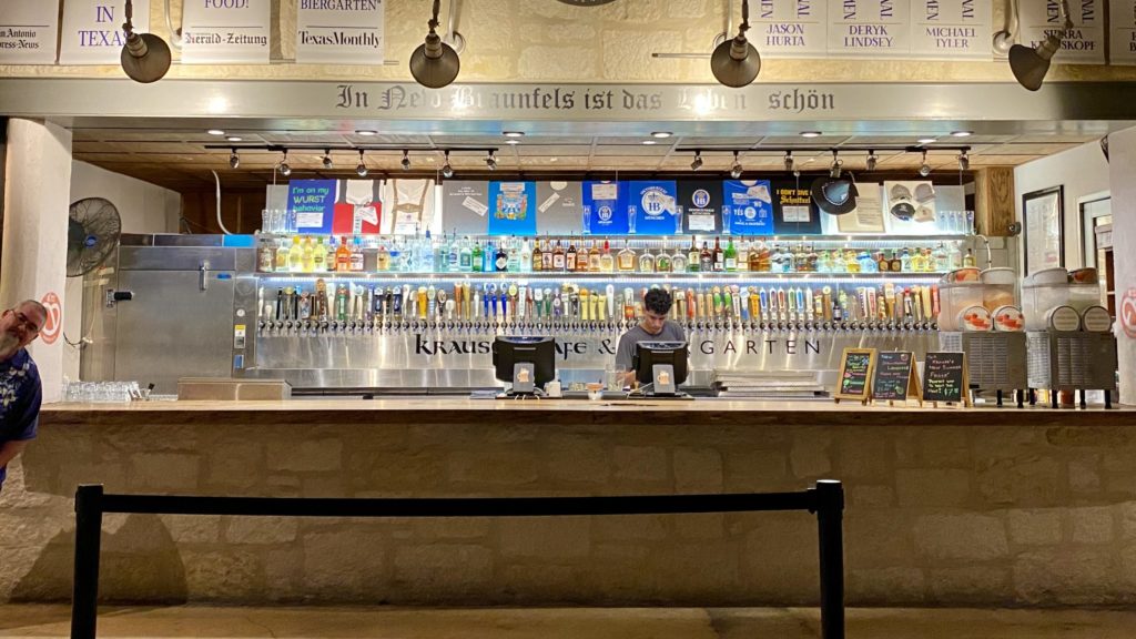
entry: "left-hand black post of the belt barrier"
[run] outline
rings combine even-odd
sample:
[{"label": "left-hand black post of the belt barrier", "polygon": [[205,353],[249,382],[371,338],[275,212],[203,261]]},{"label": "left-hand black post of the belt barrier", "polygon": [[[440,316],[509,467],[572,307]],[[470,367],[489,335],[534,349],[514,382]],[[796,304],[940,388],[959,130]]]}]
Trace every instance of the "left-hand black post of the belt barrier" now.
[{"label": "left-hand black post of the belt barrier", "polygon": [[94,639],[101,536],[102,487],[81,486],[75,491],[75,587],[72,594],[72,639]]}]

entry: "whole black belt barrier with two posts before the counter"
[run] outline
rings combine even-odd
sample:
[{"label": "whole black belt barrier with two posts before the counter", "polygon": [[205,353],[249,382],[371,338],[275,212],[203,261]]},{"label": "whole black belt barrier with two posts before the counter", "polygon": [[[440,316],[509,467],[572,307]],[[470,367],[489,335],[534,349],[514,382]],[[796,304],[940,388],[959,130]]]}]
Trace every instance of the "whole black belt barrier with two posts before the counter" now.
[{"label": "whole black belt barrier with two posts before the counter", "polygon": [[324,499],[109,495],[102,486],[75,492],[75,582],[72,639],[94,639],[103,513],[285,517],[534,517],[808,511],[817,515],[820,628],[844,639],[844,489],[818,481],[800,492],[629,497],[492,497]]}]

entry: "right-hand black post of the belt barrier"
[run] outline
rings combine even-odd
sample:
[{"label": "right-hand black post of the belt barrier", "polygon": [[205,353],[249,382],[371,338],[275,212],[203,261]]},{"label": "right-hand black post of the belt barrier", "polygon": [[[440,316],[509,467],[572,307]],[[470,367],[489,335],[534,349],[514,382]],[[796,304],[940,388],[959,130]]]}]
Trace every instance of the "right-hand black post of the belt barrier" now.
[{"label": "right-hand black post of the belt barrier", "polygon": [[820,636],[844,639],[844,488],[838,481],[817,482],[817,528],[820,538]]}]

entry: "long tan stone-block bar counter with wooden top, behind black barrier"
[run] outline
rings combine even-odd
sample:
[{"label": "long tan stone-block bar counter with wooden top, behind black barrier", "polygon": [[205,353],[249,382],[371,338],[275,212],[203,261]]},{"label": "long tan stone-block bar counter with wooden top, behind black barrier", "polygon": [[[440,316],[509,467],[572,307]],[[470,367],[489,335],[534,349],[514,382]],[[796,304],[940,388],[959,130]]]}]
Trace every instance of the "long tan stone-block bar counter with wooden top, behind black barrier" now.
[{"label": "long tan stone-block bar counter with wooden top, behind black barrier", "polygon": [[[69,600],[74,492],[481,497],[845,483],[852,605],[1136,603],[1136,410],[454,398],[44,408],[0,493],[0,601]],[[106,601],[791,605],[808,513],[107,515]]]}]

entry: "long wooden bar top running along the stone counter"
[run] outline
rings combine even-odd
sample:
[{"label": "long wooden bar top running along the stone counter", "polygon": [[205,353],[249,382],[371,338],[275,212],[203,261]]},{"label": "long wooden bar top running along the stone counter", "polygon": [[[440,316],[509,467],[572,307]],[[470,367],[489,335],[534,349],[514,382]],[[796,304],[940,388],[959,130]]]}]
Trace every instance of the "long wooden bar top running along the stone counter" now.
[{"label": "long wooden bar top running along the stone counter", "polygon": [[688,424],[1136,426],[1136,407],[861,406],[858,401],[574,400],[414,397],[285,401],[135,401],[44,405],[41,424]]}]

